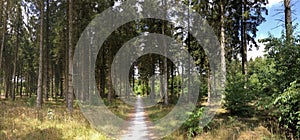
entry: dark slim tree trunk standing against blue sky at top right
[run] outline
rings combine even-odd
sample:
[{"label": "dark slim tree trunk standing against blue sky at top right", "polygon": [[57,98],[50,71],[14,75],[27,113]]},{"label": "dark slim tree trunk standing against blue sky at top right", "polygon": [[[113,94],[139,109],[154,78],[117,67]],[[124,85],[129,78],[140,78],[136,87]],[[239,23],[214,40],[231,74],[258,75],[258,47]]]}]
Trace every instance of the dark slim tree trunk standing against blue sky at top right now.
[{"label": "dark slim tree trunk standing against blue sky at top right", "polygon": [[284,0],[284,14],[285,14],[286,41],[287,43],[292,44],[293,25],[292,25],[291,0]]}]

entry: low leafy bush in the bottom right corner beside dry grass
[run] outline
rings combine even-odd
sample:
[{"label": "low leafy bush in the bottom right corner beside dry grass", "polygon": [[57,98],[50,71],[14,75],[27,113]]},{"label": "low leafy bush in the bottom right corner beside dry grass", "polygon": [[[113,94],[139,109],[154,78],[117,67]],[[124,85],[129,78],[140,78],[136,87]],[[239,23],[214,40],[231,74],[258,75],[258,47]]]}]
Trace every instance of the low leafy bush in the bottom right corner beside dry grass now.
[{"label": "low leafy bush in the bottom right corner beside dry grass", "polygon": [[283,94],[273,102],[276,107],[276,117],[284,130],[300,137],[300,84],[291,83]]}]

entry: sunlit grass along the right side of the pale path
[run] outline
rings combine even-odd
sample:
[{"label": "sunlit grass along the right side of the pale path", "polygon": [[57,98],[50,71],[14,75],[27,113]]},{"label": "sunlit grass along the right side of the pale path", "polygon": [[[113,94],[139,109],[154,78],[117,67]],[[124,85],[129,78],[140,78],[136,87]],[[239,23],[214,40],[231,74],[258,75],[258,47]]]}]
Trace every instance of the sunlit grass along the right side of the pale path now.
[{"label": "sunlit grass along the right side of the pale path", "polygon": [[[146,108],[146,112],[151,121],[157,121],[167,115],[174,105],[155,105]],[[199,135],[191,138],[188,137],[187,131],[182,127],[174,131],[169,136],[164,137],[164,140],[273,140],[286,139],[278,130],[269,127],[270,122],[265,121],[260,117],[232,117],[224,109],[217,111],[214,119],[199,132]]]}]

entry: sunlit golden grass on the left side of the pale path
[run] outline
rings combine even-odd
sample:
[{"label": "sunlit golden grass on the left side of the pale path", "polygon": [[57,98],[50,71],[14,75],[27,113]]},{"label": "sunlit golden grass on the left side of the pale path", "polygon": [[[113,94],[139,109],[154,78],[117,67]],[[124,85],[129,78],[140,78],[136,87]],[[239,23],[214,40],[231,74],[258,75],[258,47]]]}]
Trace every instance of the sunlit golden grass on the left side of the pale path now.
[{"label": "sunlit golden grass on the left side of the pale path", "polygon": [[[109,108],[121,118],[127,118],[131,109],[116,100]],[[28,99],[0,102],[0,139],[48,139],[48,140],[109,140],[96,131],[76,106],[70,117],[64,102],[47,102],[37,112]]]}]

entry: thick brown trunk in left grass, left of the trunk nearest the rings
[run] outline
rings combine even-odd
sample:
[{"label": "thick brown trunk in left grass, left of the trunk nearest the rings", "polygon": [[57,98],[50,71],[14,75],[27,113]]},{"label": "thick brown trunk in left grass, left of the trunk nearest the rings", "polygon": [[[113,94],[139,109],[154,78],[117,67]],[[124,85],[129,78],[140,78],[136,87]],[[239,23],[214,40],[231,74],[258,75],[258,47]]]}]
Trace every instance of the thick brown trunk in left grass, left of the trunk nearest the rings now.
[{"label": "thick brown trunk in left grass, left of the trunk nearest the rings", "polygon": [[42,93],[42,88],[43,88],[43,45],[44,45],[44,0],[40,1],[40,9],[41,9],[41,25],[40,25],[40,60],[39,60],[39,77],[38,77],[38,90],[37,90],[37,108],[41,109],[42,108],[42,102],[43,102],[43,93]]}]

